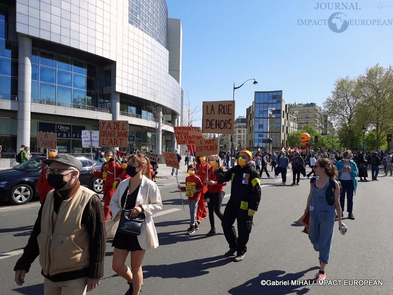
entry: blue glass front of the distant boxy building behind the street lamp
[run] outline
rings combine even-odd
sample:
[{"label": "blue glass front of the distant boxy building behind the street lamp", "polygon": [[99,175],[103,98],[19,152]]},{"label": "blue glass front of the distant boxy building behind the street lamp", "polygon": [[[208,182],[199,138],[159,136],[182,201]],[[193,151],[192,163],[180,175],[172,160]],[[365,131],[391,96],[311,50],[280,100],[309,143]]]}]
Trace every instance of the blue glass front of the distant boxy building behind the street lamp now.
[{"label": "blue glass front of the distant boxy building behind the street lamp", "polygon": [[281,145],[282,91],[255,92],[254,147],[268,148]]}]

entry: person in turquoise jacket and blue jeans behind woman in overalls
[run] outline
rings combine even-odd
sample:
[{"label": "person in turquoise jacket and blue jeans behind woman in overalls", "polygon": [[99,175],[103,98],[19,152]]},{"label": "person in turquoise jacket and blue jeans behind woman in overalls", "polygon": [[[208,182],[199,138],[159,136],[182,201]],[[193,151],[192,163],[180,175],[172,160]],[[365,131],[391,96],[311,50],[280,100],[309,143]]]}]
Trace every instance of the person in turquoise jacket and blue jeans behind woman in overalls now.
[{"label": "person in turquoise jacket and blue jeans behind woman in overalls", "polygon": [[[358,166],[351,160],[353,154],[350,150],[343,153],[342,160],[336,163],[338,170],[338,180],[341,182],[341,195],[340,195],[340,205],[341,205],[341,217],[344,216],[342,213],[344,211],[345,195],[347,196],[347,212],[348,218],[354,220],[353,215],[353,195],[356,193],[356,187],[358,185],[358,180],[356,177],[359,176]],[[337,213],[338,214],[338,213]]]}]

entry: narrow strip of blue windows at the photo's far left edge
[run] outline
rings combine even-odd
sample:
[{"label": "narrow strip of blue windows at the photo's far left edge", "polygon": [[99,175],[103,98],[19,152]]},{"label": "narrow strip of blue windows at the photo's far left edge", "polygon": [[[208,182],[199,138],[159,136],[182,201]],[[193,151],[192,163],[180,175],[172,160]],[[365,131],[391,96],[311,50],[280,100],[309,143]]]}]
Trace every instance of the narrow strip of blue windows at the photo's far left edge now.
[{"label": "narrow strip of blue windows at the photo's far left edge", "polygon": [[0,7],[0,99],[15,100],[18,94],[18,45],[8,36],[8,14]]}]

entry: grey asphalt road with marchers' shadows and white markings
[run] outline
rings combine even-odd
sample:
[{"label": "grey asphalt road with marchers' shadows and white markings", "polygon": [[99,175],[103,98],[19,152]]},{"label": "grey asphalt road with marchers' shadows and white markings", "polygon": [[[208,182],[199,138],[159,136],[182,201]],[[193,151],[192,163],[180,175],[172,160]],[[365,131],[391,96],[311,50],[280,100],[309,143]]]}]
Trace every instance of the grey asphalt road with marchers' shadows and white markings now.
[{"label": "grey asphalt road with marchers' shadows and white markings", "polygon": [[[179,174],[179,180],[183,181],[185,176]],[[199,231],[185,236],[189,222],[188,203],[185,201],[186,210],[183,211],[174,177],[160,179],[157,184],[163,198],[163,210],[180,210],[154,217],[160,246],[146,251],[141,294],[393,294],[393,177],[379,179],[359,183],[354,197],[356,220],[344,220],[348,226],[345,236],[335,230],[326,273],[328,280],[341,280],[327,281],[337,286],[312,285],[311,279],[319,266],[318,253],[313,250],[308,236],[301,233],[303,228],[296,223],[306,206],[307,179],[301,179],[300,186],[283,186],[280,179],[261,180],[262,202],[254,216],[246,258],[239,263],[223,256],[228,246],[217,217],[217,235],[205,236],[210,230],[209,221],[205,219]],[[290,175],[287,183],[291,183]],[[228,185],[226,194],[229,189]],[[223,211],[227,201],[225,198]],[[0,208],[1,295],[43,294],[38,259],[22,287],[15,284],[13,271],[32,230],[39,209],[37,203]],[[113,248],[107,243],[105,275],[92,295],[123,295],[126,292],[126,282],[112,270],[112,255]],[[262,280],[278,283],[262,286]],[[290,284],[291,280],[301,280],[302,284],[310,286],[277,286]],[[382,280],[383,285],[344,286],[364,284],[360,280]]]}]

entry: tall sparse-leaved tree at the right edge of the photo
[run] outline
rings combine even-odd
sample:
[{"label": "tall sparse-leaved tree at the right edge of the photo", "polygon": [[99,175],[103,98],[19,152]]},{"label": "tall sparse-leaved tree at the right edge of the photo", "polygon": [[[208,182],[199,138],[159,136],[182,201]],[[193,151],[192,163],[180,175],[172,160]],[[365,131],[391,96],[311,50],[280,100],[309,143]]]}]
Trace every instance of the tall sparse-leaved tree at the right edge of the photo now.
[{"label": "tall sparse-leaved tree at the right edge of the photo", "polygon": [[361,98],[358,119],[375,131],[373,148],[378,150],[393,126],[393,67],[376,64],[367,68],[365,74],[358,77],[357,92]]}]

